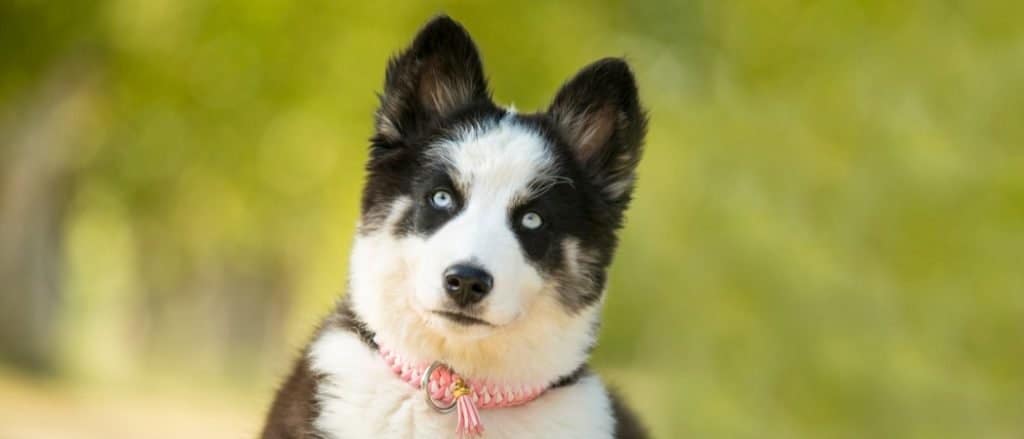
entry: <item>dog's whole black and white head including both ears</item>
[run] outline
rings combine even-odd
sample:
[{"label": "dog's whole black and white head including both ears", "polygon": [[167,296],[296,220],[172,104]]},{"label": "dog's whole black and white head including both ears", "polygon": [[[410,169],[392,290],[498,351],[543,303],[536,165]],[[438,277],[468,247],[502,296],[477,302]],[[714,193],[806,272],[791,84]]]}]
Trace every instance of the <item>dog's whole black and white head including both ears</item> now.
[{"label": "dog's whole black and white head including both ears", "polygon": [[388,344],[467,375],[570,371],[593,343],[644,127],[617,59],[586,68],[546,113],[497,106],[469,35],[434,19],[387,70],[356,311]]}]

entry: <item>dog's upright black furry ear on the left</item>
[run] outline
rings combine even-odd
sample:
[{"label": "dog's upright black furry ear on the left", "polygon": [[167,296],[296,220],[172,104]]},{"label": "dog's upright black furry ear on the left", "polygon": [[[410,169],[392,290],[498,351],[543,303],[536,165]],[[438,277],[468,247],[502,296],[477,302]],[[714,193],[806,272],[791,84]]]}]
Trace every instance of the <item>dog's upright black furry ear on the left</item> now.
[{"label": "dog's upright black furry ear on the left", "polygon": [[489,94],[476,45],[461,25],[437,16],[388,63],[377,138],[400,141],[478,100],[489,100]]}]

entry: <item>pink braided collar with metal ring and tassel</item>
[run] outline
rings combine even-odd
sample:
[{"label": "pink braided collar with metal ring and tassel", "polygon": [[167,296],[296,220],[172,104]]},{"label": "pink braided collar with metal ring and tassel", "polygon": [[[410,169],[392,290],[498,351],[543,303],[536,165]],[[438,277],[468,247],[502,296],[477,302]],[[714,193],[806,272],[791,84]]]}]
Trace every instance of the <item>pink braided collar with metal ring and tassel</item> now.
[{"label": "pink braided collar with metal ring and tassel", "polygon": [[458,412],[456,434],[462,437],[479,436],[483,433],[478,408],[522,405],[537,399],[550,388],[499,385],[485,380],[464,379],[442,362],[414,362],[381,346],[379,342],[377,345],[384,362],[398,378],[417,389],[426,387],[426,400],[432,408],[443,413],[453,410]]}]

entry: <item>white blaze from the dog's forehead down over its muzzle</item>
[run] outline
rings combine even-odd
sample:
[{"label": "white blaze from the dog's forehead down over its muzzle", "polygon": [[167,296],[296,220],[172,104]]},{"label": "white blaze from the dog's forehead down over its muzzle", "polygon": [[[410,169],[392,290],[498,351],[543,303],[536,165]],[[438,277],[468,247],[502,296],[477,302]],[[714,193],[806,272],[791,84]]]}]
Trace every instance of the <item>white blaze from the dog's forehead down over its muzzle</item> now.
[{"label": "white blaze from the dog's forehead down over its muzzle", "polygon": [[472,262],[494,277],[480,317],[507,323],[543,287],[519,246],[509,213],[550,180],[554,158],[540,134],[511,119],[467,130],[434,146],[429,155],[445,164],[465,206],[423,244],[417,302],[426,310],[447,308],[442,273],[454,264]]}]

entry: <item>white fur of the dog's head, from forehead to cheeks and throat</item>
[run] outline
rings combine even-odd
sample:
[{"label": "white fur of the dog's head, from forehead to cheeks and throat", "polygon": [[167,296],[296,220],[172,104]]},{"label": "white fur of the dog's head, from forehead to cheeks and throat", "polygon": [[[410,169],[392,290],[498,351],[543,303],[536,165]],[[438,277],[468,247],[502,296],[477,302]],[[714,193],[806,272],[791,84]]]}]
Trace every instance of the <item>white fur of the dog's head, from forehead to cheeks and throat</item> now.
[{"label": "white fur of the dog's head, from forehead to cheeks and throat", "polygon": [[[563,249],[579,263],[566,261],[564,275],[542,278],[512,228],[510,207],[553,181],[537,177],[554,174],[555,163],[542,135],[513,124],[467,130],[458,141],[434,146],[431,159],[447,164],[463,199],[458,213],[436,228],[415,229],[417,212],[431,209],[419,189],[375,207],[378,223],[352,249],[350,294],[367,325],[411,358],[443,358],[469,376],[531,382],[568,374],[586,360],[600,307],[572,310],[560,299],[559,289],[586,276],[586,249]],[[459,325],[429,312],[451,306],[444,269],[470,258],[495,279],[473,315],[499,327]]]}]

